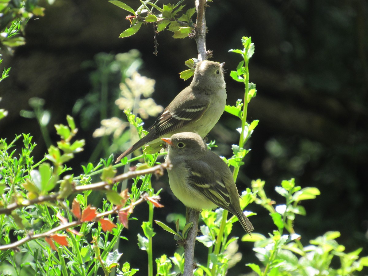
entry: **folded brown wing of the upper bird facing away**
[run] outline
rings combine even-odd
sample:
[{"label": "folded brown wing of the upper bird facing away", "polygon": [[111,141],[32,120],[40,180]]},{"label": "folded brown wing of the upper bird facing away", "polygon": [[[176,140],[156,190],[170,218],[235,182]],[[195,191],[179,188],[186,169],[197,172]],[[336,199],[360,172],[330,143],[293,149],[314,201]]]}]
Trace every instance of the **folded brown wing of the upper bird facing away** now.
[{"label": "folded brown wing of the upper bird facing away", "polygon": [[162,137],[167,133],[178,130],[185,124],[199,120],[208,106],[209,99],[206,97],[199,98],[188,95],[185,102],[174,99],[148,131],[154,129],[155,137]]}]

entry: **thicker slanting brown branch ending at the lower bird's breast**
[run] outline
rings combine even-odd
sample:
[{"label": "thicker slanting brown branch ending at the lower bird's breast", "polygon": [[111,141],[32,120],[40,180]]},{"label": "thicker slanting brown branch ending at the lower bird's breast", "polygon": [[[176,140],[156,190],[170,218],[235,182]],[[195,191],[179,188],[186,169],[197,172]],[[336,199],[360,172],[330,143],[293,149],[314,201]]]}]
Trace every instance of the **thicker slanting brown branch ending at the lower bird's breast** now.
[{"label": "thicker slanting brown branch ending at the lower bird's breast", "polygon": [[[116,183],[128,178],[133,178],[136,176],[141,176],[144,174],[149,174],[149,173],[155,173],[155,174],[162,174],[163,169],[167,168],[167,164],[163,163],[163,164],[159,164],[157,166],[151,167],[149,169],[145,169],[145,170],[135,170],[135,171],[128,171],[127,173],[123,173],[120,174],[116,177],[114,177],[112,179],[112,183]],[[88,184],[88,185],[79,185],[79,186],[74,186],[71,190],[71,193],[74,192],[81,192],[81,191],[88,191],[88,190],[93,190],[93,191],[97,191],[97,190],[110,190],[112,184],[106,182],[106,181],[100,181],[97,183],[93,183],[93,184]],[[37,204],[37,203],[41,203],[41,202],[45,202],[45,201],[53,201],[53,200],[59,200],[59,199],[64,199],[63,197],[59,197],[61,195],[60,192],[55,192],[54,194],[50,194],[50,195],[41,195],[38,198],[32,199],[32,200],[24,200],[21,203],[20,202],[14,202],[12,204],[9,204],[8,206],[6,206],[5,208],[1,208],[0,209],[0,214],[7,214],[10,215],[11,211],[20,208],[20,207],[25,207],[25,206],[29,206],[29,205],[33,205],[33,204]]]}]

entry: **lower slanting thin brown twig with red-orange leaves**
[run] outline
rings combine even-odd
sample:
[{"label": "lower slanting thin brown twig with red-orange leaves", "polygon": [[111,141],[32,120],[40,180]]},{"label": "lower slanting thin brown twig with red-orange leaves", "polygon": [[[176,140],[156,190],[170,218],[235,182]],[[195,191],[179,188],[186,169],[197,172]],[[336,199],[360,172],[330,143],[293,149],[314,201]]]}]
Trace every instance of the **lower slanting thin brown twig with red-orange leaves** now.
[{"label": "lower slanting thin brown twig with red-orange leaves", "polygon": [[[94,220],[99,219],[101,217],[108,216],[108,215],[113,214],[113,213],[118,213],[118,212],[121,212],[121,211],[127,211],[127,210],[131,209],[132,207],[134,208],[135,205],[138,205],[138,204],[141,204],[142,202],[147,201],[147,197],[148,197],[148,194],[145,193],[145,194],[143,194],[141,196],[141,198],[139,198],[137,201],[133,202],[131,205],[129,205],[127,207],[124,207],[124,208],[120,208],[120,209],[114,208],[112,210],[109,210],[109,211],[106,211],[106,212],[103,212],[103,213],[99,213]],[[156,198],[156,199],[158,199],[158,198]],[[74,222],[69,222],[69,223],[61,224],[60,226],[57,226],[57,227],[55,227],[53,229],[50,229],[49,231],[46,231],[44,233],[35,234],[35,235],[28,234],[27,237],[22,238],[19,241],[16,241],[16,242],[11,243],[11,244],[0,246],[0,251],[1,250],[8,250],[8,249],[16,248],[16,247],[18,247],[18,246],[20,246],[22,244],[27,243],[28,241],[35,240],[36,238],[45,238],[45,237],[50,236],[53,233],[56,233],[57,231],[66,230],[66,229],[69,229],[71,227],[78,226],[78,225],[80,225],[82,223],[84,223],[84,222],[82,222],[80,220],[77,220],[77,221],[74,221]]]}]

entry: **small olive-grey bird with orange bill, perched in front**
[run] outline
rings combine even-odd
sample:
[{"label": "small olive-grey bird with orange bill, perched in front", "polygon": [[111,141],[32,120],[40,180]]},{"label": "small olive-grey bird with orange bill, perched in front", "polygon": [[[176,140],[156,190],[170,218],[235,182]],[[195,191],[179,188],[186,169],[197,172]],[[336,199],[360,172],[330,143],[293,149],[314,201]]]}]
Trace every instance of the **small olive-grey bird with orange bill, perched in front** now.
[{"label": "small olive-grey bird with orange bill, perched in front", "polygon": [[167,143],[166,162],[170,188],[187,207],[201,211],[221,207],[237,216],[248,234],[252,223],[240,208],[238,189],[227,164],[196,133],[182,132],[162,138]]}]

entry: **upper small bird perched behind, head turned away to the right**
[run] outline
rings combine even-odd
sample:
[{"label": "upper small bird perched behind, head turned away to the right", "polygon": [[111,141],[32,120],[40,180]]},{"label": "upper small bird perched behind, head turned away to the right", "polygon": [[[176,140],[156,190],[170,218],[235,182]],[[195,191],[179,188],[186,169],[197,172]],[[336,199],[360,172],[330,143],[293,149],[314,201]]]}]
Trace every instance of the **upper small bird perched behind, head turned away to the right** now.
[{"label": "upper small bird perched behind, head turned away to the right", "polygon": [[219,120],[226,105],[225,63],[203,60],[195,65],[191,84],[184,88],[164,109],[148,134],[121,154],[116,162],[136,149],[149,144],[147,153],[162,148],[162,137],[178,132],[194,131],[204,138]]}]

